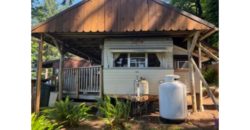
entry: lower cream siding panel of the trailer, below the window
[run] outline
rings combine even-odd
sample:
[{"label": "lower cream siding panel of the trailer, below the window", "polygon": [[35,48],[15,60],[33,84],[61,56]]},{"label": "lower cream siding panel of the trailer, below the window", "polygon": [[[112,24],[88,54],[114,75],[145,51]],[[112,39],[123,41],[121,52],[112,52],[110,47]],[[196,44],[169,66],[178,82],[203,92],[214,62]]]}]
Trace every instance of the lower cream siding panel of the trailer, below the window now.
[{"label": "lower cream siding panel of the trailer, below the window", "polygon": [[135,94],[134,84],[138,77],[149,83],[149,94],[158,95],[160,80],[173,70],[166,69],[104,69],[104,94]]}]

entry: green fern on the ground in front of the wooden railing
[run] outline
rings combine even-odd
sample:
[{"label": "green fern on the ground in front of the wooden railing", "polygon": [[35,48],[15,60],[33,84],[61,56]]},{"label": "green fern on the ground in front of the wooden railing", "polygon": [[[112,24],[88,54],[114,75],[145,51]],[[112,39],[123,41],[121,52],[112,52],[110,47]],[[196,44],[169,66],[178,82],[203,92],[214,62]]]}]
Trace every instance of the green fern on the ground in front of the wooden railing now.
[{"label": "green fern on the ground in front of the wooden railing", "polygon": [[48,119],[56,120],[60,124],[66,126],[78,125],[81,120],[87,119],[90,114],[88,114],[90,107],[86,104],[73,104],[69,100],[69,97],[65,101],[57,101],[55,107],[43,110],[43,114],[48,117]]}]

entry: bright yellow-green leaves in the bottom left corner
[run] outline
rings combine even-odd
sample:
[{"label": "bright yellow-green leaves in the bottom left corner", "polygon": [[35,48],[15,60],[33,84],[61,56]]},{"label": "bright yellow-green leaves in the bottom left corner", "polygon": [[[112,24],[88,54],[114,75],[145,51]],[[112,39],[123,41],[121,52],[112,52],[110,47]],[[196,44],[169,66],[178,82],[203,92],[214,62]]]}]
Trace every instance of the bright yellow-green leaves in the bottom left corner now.
[{"label": "bright yellow-green leaves in the bottom left corner", "polygon": [[32,130],[59,130],[62,126],[58,126],[57,123],[50,122],[43,115],[38,116],[35,113],[32,113],[31,127]]}]

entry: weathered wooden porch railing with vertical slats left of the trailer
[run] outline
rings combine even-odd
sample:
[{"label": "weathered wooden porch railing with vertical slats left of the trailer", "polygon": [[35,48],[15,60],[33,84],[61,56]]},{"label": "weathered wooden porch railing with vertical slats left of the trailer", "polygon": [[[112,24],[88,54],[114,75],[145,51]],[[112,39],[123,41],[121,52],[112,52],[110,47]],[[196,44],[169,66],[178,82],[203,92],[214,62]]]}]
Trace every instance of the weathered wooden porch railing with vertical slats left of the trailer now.
[{"label": "weathered wooden porch railing with vertical slats left of the trailer", "polygon": [[79,94],[101,94],[101,76],[101,66],[65,68],[63,92],[73,94],[77,98]]}]

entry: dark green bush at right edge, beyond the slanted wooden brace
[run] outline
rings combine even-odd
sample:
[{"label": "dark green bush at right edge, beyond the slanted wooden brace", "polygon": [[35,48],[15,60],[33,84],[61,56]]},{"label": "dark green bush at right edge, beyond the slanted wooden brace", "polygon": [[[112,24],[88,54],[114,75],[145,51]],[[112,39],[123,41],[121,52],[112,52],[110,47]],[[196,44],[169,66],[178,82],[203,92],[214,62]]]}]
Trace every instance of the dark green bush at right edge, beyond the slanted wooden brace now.
[{"label": "dark green bush at right edge, beyond the slanted wooden brace", "polygon": [[208,67],[203,71],[203,75],[208,84],[214,84],[218,86],[219,77],[215,69]]}]

